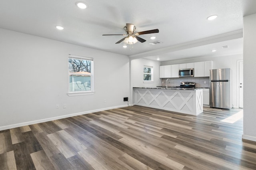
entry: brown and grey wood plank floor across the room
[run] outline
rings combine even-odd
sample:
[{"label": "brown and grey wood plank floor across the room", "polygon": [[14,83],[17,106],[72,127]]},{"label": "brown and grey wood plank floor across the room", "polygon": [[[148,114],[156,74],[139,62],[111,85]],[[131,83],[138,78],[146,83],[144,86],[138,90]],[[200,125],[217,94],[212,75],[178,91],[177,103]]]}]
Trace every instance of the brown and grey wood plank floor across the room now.
[{"label": "brown and grey wood plank floor across the room", "polygon": [[242,119],[222,122],[240,111],[133,106],[3,130],[0,170],[256,169]]}]

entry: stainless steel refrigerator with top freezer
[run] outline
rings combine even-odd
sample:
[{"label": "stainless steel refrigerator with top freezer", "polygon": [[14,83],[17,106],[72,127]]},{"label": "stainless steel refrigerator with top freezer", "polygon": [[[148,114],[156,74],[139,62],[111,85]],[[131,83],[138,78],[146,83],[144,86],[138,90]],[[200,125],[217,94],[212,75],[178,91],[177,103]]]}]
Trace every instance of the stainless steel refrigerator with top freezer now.
[{"label": "stainless steel refrigerator with top freezer", "polygon": [[210,107],[230,109],[230,69],[210,70]]}]

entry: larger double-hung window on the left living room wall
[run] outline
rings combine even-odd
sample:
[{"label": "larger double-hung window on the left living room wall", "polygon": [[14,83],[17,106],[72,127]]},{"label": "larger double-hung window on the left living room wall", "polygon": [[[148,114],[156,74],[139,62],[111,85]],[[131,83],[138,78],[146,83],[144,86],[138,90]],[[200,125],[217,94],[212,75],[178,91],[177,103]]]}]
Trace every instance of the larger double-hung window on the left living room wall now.
[{"label": "larger double-hung window on the left living room wall", "polygon": [[68,56],[69,93],[92,92],[93,59]]}]

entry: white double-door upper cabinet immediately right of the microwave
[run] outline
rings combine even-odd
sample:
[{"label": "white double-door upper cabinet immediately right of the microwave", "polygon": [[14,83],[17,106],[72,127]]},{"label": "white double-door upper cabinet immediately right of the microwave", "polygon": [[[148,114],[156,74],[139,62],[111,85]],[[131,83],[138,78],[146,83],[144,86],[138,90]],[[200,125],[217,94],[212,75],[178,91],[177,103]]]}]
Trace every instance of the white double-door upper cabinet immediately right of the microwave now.
[{"label": "white double-door upper cabinet immediately right of the microwave", "polygon": [[212,69],[212,61],[194,63],[194,77],[209,77]]}]

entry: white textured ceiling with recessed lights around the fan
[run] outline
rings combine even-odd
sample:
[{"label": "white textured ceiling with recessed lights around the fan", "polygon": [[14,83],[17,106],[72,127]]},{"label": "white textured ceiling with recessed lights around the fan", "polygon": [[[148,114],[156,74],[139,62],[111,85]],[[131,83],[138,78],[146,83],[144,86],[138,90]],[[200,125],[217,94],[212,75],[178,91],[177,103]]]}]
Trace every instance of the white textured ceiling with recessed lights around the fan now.
[{"label": "white textured ceiling with recessed lights around the fan", "polygon": [[[243,16],[256,13],[256,0],[2,0],[0,28],[62,42],[120,53],[134,58],[162,58],[168,61],[212,54],[212,48],[228,45],[223,54],[242,53]],[[206,18],[218,15],[216,20]],[[141,35],[146,42],[115,44],[131,23],[136,32],[159,29],[158,34]],[[56,30],[61,25],[64,30]],[[150,36],[156,36],[150,40]],[[237,39],[237,40],[236,40]],[[150,42],[162,43],[150,45]],[[225,42],[225,43],[223,43]]]}]

